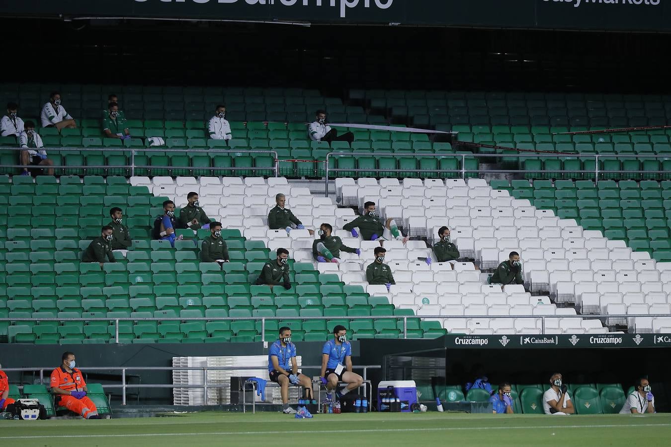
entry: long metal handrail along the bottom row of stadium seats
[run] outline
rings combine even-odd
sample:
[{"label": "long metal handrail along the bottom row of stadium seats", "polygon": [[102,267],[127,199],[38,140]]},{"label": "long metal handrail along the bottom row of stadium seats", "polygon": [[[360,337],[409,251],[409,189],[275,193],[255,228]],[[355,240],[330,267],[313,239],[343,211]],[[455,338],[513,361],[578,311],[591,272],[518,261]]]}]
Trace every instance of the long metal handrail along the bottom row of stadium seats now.
[{"label": "long metal handrail along the bottom row of stadium seats", "polygon": [[[403,319],[403,338],[408,337],[408,318],[419,318],[420,320],[423,319],[431,319],[431,320],[470,320],[470,319],[478,319],[478,318],[485,318],[485,319],[492,319],[492,318],[501,318],[501,319],[515,319],[515,318],[540,318],[541,320],[541,334],[545,334],[546,330],[546,318],[589,318],[591,319],[597,319],[597,318],[656,318],[656,317],[668,317],[668,314],[582,314],[582,315],[413,315],[413,316],[408,316],[408,315],[399,315],[399,316],[389,316],[385,318],[394,318],[395,320],[401,320]],[[161,322],[161,321],[236,321],[236,320],[261,320],[261,338],[264,339],[266,338],[266,320],[287,320],[291,318],[298,318],[300,320],[333,320],[333,316],[298,316],[298,317],[282,317],[282,316],[264,316],[264,317],[185,317],[185,318],[180,318],[180,317],[167,317],[167,318],[158,318],[158,317],[152,317],[152,318],[132,318],[132,317],[121,317],[121,318],[0,318],[0,322],[17,322],[17,321],[30,321],[30,322],[36,322],[36,321],[55,321],[55,322],[66,322],[66,321],[81,321],[81,322],[87,322],[87,321],[107,321],[107,322],[114,322],[115,325],[115,338],[114,342],[119,343],[119,322],[121,321],[134,321],[134,322],[140,322],[140,321],[155,321],[155,322]],[[348,320],[370,320],[372,318],[371,316],[346,316],[344,317]]]}]

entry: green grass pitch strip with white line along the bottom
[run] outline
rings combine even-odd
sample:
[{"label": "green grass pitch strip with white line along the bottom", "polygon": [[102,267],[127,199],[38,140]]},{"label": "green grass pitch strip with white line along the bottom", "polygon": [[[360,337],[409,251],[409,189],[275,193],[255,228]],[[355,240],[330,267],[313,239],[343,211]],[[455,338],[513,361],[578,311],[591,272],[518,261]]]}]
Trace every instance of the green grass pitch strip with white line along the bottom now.
[{"label": "green grass pitch strip with white line along the bottom", "polygon": [[669,446],[671,414],[539,416],[464,413],[317,415],[203,412],[168,418],[0,421],[25,446]]}]

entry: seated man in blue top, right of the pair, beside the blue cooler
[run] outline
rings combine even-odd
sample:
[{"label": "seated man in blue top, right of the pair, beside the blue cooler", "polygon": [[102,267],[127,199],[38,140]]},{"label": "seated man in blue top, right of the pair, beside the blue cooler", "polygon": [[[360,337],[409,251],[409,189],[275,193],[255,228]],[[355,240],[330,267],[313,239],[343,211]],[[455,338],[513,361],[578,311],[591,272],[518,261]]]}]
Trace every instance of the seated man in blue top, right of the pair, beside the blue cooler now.
[{"label": "seated man in blue top, right of the pair, beside the blue cooler", "polygon": [[340,395],[345,395],[360,387],[364,379],[352,373],[352,345],[347,341],[345,326],[335,326],[333,336],[321,350],[321,383],[332,393],[338,382],[345,382],[346,387],[340,391]]}]

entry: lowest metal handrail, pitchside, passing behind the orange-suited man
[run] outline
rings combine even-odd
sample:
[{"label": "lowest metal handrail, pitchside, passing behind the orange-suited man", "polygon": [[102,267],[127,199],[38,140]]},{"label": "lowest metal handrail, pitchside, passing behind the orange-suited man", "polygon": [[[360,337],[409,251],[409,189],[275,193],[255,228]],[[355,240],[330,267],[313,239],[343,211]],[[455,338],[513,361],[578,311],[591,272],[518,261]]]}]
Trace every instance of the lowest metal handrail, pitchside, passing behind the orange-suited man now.
[{"label": "lowest metal handrail, pitchside, passing behind the orange-suited man", "polygon": [[[121,405],[126,405],[126,389],[127,388],[202,388],[203,397],[207,398],[207,389],[208,388],[230,388],[230,385],[207,385],[207,371],[248,371],[255,369],[266,369],[268,365],[260,365],[258,367],[77,367],[80,371],[121,371],[121,384],[120,385],[102,385],[103,388],[121,388]],[[356,365],[352,366],[353,369],[362,369],[364,371],[363,379],[367,380],[368,369],[381,369],[380,365]],[[54,367],[38,367],[38,368],[3,368],[5,372],[12,373],[23,373],[23,372],[39,372],[40,373],[40,385],[44,385],[44,371],[52,371]],[[318,366],[301,366],[299,369],[321,369],[321,365]],[[172,384],[156,384],[156,383],[145,383],[145,384],[134,384],[128,385],[126,380],[126,371],[203,371],[203,385],[175,385]],[[23,388],[23,385],[19,386]]]}]

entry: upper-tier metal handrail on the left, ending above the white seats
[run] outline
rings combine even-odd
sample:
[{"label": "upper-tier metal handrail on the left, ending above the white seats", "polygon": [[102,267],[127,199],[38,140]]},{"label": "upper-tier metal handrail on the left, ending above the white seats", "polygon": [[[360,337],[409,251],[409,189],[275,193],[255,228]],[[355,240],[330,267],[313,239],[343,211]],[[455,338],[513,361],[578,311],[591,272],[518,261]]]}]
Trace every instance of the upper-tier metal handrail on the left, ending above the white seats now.
[{"label": "upper-tier metal handrail on the left, ending above the white seats", "polygon": [[[12,151],[25,151],[25,148],[21,147],[3,147],[3,149],[7,150],[12,150]],[[41,169],[107,169],[107,170],[114,170],[114,169],[127,169],[130,170],[130,175],[134,176],[135,175],[135,170],[136,169],[166,169],[166,170],[209,170],[211,172],[214,172],[216,170],[229,170],[229,171],[264,171],[264,170],[272,170],[274,172],[274,176],[278,177],[279,176],[279,171],[280,171],[280,163],[277,157],[277,151],[274,151],[272,149],[268,151],[259,151],[259,150],[237,150],[235,148],[227,148],[227,149],[221,149],[221,148],[213,148],[213,149],[168,149],[166,148],[156,148],[156,147],[43,147],[42,149],[48,149],[49,151],[79,151],[79,152],[130,152],[130,165],[114,165],[114,166],[89,166],[89,165],[82,165],[82,166],[43,166]],[[185,153],[188,155],[198,155],[198,154],[217,154],[217,155],[225,155],[225,154],[230,154],[230,153],[262,153],[265,155],[273,155],[273,167],[272,168],[257,168],[257,167],[252,167],[250,166],[249,168],[244,168],[244,167],[239,167],[236,168],[235,166],[230,166],[230,167],[215,167],[215,166],[152,166],[152,165],[138,165],[135,163],[135,157],[137,152],[176,152],[176,153]],[[129,154],[125,153],[127,157]],[[0,165],[3,168],[17,168],[17,169],[35,169],[35,165],[21,165],[21,164],[12,164],[12,165],[7,165],[3,164]]]}]

